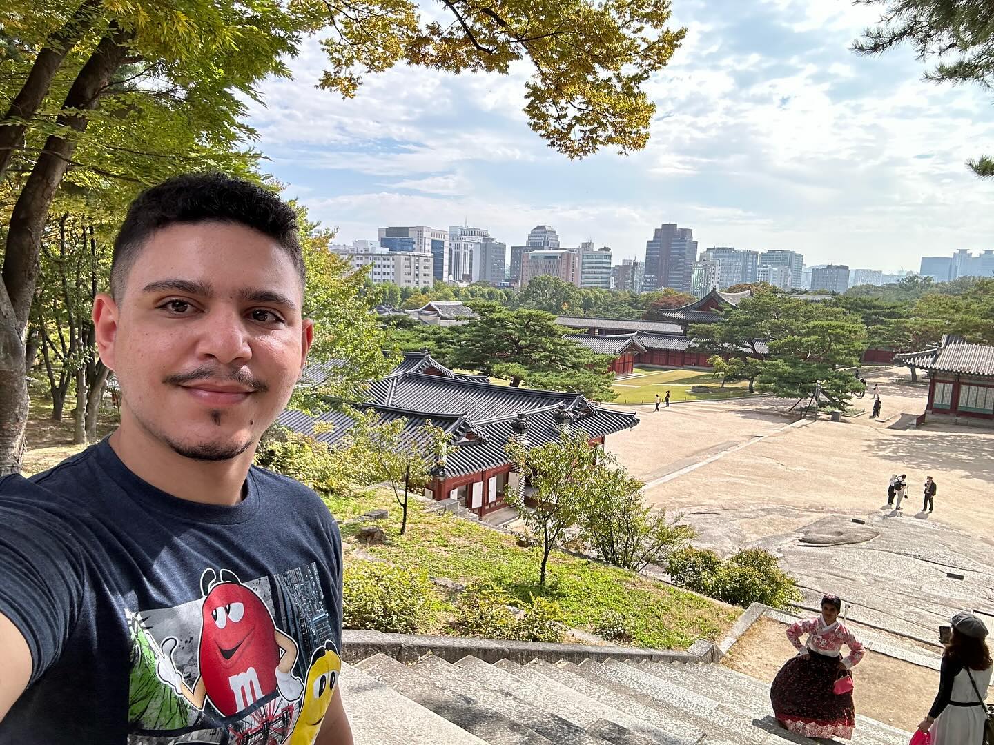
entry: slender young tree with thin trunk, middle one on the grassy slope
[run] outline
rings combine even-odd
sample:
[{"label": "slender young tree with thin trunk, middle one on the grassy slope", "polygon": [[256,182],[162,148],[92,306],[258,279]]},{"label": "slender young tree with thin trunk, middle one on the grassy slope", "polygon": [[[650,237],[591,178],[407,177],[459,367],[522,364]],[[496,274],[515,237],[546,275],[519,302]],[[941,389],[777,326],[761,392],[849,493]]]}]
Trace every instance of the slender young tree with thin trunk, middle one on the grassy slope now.
[{"label": "slender young tree with thin trunk, middle one on the grassy slope", "polygon": [[598,450],[590,447],[588,434],[573,432],[533,450],[511,442],[507,451],[521,469],[521,478],[530,479],[535,489],[531,505],[511,490],[505,500],[542,541],[539,584],[545,585],[549,554],[563,545],[567,530],[580,522],[583,507],[599,486]]}]

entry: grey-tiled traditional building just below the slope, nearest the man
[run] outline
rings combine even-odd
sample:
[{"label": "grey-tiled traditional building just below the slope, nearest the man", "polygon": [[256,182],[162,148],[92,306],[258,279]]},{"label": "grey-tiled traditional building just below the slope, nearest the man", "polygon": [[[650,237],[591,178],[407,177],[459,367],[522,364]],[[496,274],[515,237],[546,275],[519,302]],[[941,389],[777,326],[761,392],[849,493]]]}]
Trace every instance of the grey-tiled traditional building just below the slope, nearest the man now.
[{"label": "grey-tiled traditional building just below the slope, nearest the man", "polygon": [[[633,412],[602,408],[580,393],[515,388],[490,383],[485,375],[454,373],[427,353],[405,353],[389,375],[370,387],[369,400],[357,404],[381,420],[405,418],[404,432],[423,437],[424,424],[440,427],[448,438],[425,496],[456,499],[483,516],[504,507],[504,490],[516,489],[517,474],[505,450],[512,439],[527,447],[558,440],[565,429],[583,431],[591,445],[638,423]],[[287,409],[277,423],[333,445],[354,422],[345,412],[312,417]],[[333,426],[314,434],[316,422]]]}]

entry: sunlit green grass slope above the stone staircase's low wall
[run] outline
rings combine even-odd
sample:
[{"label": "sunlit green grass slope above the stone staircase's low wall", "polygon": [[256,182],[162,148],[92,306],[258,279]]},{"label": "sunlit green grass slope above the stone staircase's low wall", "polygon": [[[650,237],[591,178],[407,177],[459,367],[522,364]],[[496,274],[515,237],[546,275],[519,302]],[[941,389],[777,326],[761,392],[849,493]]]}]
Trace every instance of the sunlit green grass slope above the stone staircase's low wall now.
[{"label": "sunlit green grass slope above the stone staircase's low wall", "polygon": [[[388,542],[363,546],[376,558],[463,584],[493,582],[524,604],[530,594],[544,595],[563,609],[567,625],[585,631],[593,631],[609,612],[620,613],[640,647],[683,650],[700,638],[719,639],[740,613],[634,572],[560,551],[550,557],[550,578],[543,590],[537,584],[540,549],[521,548],[513,537],[473,522],[425,515],[419,506],[412,511],[407,534],[400,534],[399,510],[392,510],[383,526]],[[343,526],[346,550],[357,546],[351,538],[357,529]],[[442,627],[434,631],[445,633]]]}]

